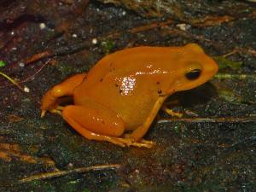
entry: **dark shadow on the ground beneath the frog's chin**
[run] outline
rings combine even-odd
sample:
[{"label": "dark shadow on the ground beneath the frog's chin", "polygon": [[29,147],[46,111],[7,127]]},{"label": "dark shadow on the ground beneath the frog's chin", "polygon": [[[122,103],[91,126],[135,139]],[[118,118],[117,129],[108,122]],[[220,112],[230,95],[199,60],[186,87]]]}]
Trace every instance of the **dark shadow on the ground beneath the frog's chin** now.
[{"label": "dark shadow on the ground beneath the frog's chin", "polygon": [[207,103],[213,96],[217,95],[216,88],[211,83],[206,83],[192,90],[179,91],[170,96],[166,103],[177,101],[178,103],[173,105],[174,107],[193,108],[195,105]]}]

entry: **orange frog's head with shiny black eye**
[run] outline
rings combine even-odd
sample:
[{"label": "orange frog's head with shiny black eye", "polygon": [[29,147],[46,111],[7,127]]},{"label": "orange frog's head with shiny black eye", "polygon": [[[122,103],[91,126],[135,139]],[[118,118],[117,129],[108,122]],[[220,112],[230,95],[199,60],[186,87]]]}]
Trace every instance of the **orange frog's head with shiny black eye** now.
[{"label": "orange frog's head with shiny black eye", "polygon": [[176,91],[193,89],[218,72],[217,63],[198,44],[187,44],[182,49],[183,58],[175,70],[178,74],[173,84]]}]

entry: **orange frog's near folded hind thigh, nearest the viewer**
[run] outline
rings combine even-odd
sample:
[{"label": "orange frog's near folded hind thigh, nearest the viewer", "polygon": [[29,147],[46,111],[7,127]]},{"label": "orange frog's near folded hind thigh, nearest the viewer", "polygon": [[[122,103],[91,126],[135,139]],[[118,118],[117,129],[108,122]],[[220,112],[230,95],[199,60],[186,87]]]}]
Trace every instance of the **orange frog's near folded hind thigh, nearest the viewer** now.
[{"label": "orange frog's near folded hind thigh, nearest the viewer", "polygon": [[[91,101],[92,102],[92,101]],[[99,107],[96,105],[96,107]],[[63,108],[62,116],[67,123],[87,139],[109,141],[119,137],[125,130],[122,119],[108,108],[94,108],[93,105],[70,105]],[[113,141],[109,141],[112,142]]]}]

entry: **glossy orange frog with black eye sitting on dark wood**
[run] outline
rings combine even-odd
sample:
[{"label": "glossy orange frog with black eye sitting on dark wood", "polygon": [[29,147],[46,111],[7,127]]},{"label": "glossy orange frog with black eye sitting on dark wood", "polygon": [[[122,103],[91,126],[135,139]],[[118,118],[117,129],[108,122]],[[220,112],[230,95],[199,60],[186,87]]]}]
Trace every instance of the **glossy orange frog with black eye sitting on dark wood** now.
[{"label": "glossy orange frog with black eye sitting on dark wood", "polygon": [[[61,113],[87,139],[150,148],[153,142],[143,136],[166,98],[207,82],[217,72],[216,62],[197,44],[119,50],[89,73],[48,90],[41,116]],[[73,96],[73,105],[59,106],[62,96]]]}]

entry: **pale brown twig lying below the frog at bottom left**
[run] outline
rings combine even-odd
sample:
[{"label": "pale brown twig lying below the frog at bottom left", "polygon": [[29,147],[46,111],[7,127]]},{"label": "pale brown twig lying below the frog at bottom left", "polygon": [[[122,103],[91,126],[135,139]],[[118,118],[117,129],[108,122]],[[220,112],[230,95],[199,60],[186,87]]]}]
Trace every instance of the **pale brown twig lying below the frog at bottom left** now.
[{"label": "pale brown twig lying below the frog at bottom left", "polygon": [[101,165],[101,166],[81,167],[81,168],[76,168],[73,170],[67,170],[67,171],[61,171],[61,172],[47,172],[43,174],[33,175],[31,177],[22,178],[19,180],[19,183],[29,183],[35,180],[42,180],[42,179],[53,178],[53,177],[62,177],[62,176],[66,176],[73,173],[112,170],[112,169],[118,169],[119,167],[120,167],[119,164],[109,164],[109,165]]}]

